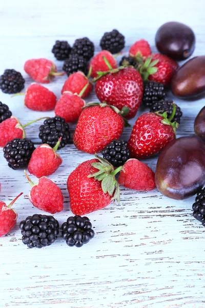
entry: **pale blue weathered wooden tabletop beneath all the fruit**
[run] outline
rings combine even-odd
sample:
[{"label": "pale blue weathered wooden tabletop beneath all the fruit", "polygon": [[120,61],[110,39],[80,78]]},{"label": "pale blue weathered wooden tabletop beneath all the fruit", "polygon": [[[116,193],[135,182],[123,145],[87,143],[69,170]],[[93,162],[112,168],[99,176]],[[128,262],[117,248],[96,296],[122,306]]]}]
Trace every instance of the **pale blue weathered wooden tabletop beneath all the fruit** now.
[{"label": "pale blue weathered wooden tabletop beneath all the fruit", "polygon": [[[23,70],[26,60],[47,57],[56,39],[72,44],[88,36],[99,51],[101,35],[113,28],[126,36],[126,48],[146,38],[156,51],[154,36],[166,21],[177,20],[193,27],[197,43],[194,55],[204,54],[204,1],[148,0],[146,6],[129,1],[9,1],[0,4],[0,72],[15,68],[23,73],[26,87],[32,80]],[[55,61],[61,70],[62,63]],[[46,85],[59,98],[66,76]],[[172,95],[170,94],[170,97]],[[54,112],[36,112],[24,107],[23,97],[10,98],[1,92],[23,123]],[[94,93],[87,99],[96,100]],[[175,99],[183,111],[177,136],[193,134],[193,122],[205,100]],[[143,112],[142,109],[137,113]],[[133,126],[135,119],[130,121]],[[26,128],[27,137],[39,144],[35,123]],[[71,125],[73,133],[75,125]],[[128,140],[131,128],[122,137]],[[50,177],[63,191],[64,210],[55,215],[63,223],[72,215],[66,188],[67,177],[81,162],[93,156],[71,144],[59,150],[63,164]],[[144,160],[155,170],[157,157]],[[28,200],[30,191],[24,172],[11,170],[0,149],[1,200],[16,201],[17,225],[0,239],[1,307],[186,307],[202,308],[204,299],[204,228],[192,217],[194,197],[171,200],[156,189],[136,192],[121,187],[121,203],[110,204],[89,215],[96,236],[82,248],[70,248],[60,237],[44,249],[28,249],[20,240],[18,224],[39,213]],[[34,179],[34,177],[32,177]]]}]

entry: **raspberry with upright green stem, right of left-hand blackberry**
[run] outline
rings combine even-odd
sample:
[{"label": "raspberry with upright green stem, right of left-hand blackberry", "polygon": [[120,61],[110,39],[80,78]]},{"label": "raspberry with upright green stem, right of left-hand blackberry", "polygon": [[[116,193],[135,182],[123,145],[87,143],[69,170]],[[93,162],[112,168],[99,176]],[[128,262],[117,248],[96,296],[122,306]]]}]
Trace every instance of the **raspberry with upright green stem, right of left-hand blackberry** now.
[{"label": "raspberry with upright green stem, right of left-hand blackberry", "polygon": [[61,137],[54,148],[48,144],[41,144],[33,151],[28,165],[30,174],[41,178],[50,176],[57,170],[63,163],[63,159],[56,153],[60,141]]}]

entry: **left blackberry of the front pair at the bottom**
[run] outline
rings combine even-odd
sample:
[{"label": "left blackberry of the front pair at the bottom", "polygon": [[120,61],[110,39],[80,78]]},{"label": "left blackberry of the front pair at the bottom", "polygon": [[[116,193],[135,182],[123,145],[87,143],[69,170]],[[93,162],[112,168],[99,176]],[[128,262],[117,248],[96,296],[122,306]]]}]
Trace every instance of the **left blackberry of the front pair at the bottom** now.
[{"label": "left blackberry of the front pair at the bottom", "polygon": [[55,242],[59,233],[58,221],[53,216],[34,214],[21,221],[22,242],[29,248],[42,248]]}]

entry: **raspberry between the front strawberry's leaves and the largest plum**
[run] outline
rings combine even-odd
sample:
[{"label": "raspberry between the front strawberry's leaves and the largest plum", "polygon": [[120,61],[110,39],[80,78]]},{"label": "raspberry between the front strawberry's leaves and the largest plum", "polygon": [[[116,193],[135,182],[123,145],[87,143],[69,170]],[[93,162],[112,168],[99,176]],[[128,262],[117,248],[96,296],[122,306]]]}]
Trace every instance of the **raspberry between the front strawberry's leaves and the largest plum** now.
[{"label": "raspberry between the front strawberry's leaves and the largest plum", "polygon": [[156,187],[154,172],[137,159],[129,159],[120,171],[118,183],[130,189],[152,190]]}]

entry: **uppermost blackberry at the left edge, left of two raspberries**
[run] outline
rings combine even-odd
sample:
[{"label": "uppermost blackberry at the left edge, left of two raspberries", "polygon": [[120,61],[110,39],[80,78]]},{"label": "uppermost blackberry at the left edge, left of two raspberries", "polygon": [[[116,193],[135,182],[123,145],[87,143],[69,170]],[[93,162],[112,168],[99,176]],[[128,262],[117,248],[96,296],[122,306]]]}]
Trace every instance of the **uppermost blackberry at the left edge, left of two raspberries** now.
[{"label": "uppermost blackberry at the left edge, left of two raspberries", "polygon": [[4,93],[18,93],[24,89],[24,84],[25,79],[15,69],[5,69],[4,74],[0,76],[0,89]]}]

